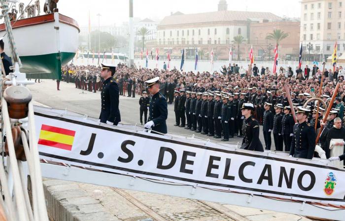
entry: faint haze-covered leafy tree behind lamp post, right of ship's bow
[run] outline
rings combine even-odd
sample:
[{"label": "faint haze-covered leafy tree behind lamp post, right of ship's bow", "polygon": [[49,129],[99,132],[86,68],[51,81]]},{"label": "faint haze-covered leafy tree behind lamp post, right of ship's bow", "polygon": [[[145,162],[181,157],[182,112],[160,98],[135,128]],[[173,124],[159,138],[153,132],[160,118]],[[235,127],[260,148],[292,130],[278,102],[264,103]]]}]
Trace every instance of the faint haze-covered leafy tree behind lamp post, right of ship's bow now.
[{"label": "faint haze-covered leafy tree behind lamp post, right of ship's bow", "polygon": [[[101,48],[98,48],[99,34],[101,38],[101,44],[100,44]],[[114,48],[115,44],[116,44],[115,37],[112,36],[110,33],[108,32],[99,33],[98,30],[91,32],[91,49],[94,49],[95,52],[103,53],[104,51],[111,51],[111,49]]]}]

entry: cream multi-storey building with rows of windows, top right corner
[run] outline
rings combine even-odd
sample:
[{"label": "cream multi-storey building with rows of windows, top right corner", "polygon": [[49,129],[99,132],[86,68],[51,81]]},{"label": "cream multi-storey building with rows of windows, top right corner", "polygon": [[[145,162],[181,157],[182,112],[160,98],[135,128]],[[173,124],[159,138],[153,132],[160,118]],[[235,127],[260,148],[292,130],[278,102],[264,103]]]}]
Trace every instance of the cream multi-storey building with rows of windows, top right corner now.
[{"label": "cream multi-storey building with rows of windows, top right corner", "polygon": [[345,0],[302,0],[301,36],[305,57],[327,59],[337,40],[338,56],[345,51]]}]

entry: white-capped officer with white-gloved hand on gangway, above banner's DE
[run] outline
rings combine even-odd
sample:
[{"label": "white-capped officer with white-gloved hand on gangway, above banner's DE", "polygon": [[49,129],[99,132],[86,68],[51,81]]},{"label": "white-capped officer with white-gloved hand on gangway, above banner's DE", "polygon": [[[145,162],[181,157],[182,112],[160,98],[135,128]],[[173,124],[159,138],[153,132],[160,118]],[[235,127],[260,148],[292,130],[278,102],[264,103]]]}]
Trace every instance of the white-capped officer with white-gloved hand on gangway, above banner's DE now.
[{"label": "white-capped officer with white-gloved hand on gangway, above banner's DE", "polygon": [[166,120],[168,118],[168,104],[164,95],[159,92],[159,77],[148,80],[145,83],[151,98],[148,118],[149,121],[144,127],[146,129],[151,128],[152,131],[155,132],[167,134],[168,129]]}]

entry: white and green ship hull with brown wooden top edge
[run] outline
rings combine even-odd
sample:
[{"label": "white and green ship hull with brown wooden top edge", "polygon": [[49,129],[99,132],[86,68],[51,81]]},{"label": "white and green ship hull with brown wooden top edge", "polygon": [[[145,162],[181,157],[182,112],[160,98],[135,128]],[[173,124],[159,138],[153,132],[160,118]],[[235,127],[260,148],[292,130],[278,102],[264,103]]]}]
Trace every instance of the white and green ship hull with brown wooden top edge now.
[{"label": "white and green ship hull with brown wooden top edge", "polygon": [[[80,29],[72,18],[59,13],[46,14],[11,22],[21,72],[31,79],[61,79],[61,66],[75,56]],[[5,35],[4,24],[0,36]],[[5,53],[9,53],[7,35]]]}]

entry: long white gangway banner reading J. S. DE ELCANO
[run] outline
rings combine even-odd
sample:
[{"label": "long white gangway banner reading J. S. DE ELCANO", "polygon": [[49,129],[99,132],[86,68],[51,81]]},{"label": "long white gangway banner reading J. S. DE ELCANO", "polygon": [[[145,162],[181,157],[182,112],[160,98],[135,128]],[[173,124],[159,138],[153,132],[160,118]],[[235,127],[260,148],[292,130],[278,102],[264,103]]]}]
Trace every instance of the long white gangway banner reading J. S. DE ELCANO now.
[{"label": "long white gangway banner reading J. S. DE ELCANO", "polygon": [[100,124],[61,110],[35,108],[46,160],[191,186],[344,204],[345,170],[328,161],[237,149],[193,138]]}]

